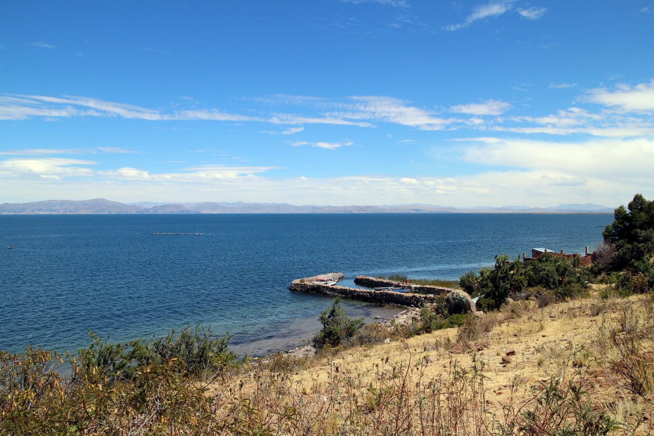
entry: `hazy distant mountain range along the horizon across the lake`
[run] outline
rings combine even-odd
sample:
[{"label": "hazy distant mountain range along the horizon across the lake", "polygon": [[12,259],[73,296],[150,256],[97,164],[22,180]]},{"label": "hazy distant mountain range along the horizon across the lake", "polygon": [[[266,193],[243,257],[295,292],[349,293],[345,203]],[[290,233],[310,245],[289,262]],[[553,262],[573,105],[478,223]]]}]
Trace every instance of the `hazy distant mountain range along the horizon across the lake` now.
[{"label": "hazy distant mountain range along the horizon across the lake", "polygon": [[296,206],[288,203],[118,203],[92,200],[45,200],[2,203],[0,214],[301,214],[301,213],[612,213],[613,208],[586,203],[555,207],[448,207],[436,205]]}]

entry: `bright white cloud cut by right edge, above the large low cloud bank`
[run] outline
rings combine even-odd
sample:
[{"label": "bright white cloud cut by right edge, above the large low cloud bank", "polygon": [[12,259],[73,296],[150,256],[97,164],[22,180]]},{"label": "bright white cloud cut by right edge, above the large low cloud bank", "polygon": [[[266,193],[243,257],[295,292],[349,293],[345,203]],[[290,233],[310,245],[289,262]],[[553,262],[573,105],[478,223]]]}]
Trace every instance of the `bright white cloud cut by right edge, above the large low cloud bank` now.
[{"label": "bright white cloud cut by right edge, above the large low cloud bank", "polygon": [[615,90],[595,88],[589,90],[585,101],[633,112],[654,110],[654,79],[636,86],[619,84]]}]

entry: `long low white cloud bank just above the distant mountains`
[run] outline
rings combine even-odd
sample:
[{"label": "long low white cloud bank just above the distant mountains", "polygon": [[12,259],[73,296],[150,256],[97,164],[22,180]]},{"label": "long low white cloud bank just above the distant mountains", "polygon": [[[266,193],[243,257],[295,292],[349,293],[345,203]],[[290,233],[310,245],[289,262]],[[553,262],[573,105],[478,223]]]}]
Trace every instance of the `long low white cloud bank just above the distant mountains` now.
[{"label": "long low white cloud bank just above the distant mountains", "polygon": [[[548,148],[559,147],[557,150]],[[620,152],[620,146],[625,149]],[[5,201],[48,198],[88,199],[105,197],[116,201],[224,201],[288,202],[318,205],[381,205],[426,203],[453,206],[533,205],[599,203],[615,205],[628,201],[634,192],[651,186],[651,141],[636,144],[560,143],[545,141],[510,143],[499,138],[475,139],[466,158],[479,158],[489,171],[472,175],[403,177],[359,175],[275,179],[264,176],[274,167],[228,167],[203,165],[173,173],[122,167],[109,171],[80,168],[94,162],[77,159],[10,159],[0,161],[0,191]],[[549,150],[550,153],[547,153]],[[572,162],[554,155],[568,153]],[[643,156],[638,162],[638,156]],[[604,156],[604,152],[609,152]],[[629,157],[631,156],[631,157]],[[496,170],[495,165],[523,168]],[[616,160],[617,158],[617,160]],[[17,161],[20,160],[20,161]],[[27,160],[27,161],[26,161]],[[636,162],[634,162],[636,161]],[[631,171],[613,171],[614,165],[635,165]],[[604,171],[606,169],[606,171]],[[86,175],[95,175],[88,177]],[[610,175],[608,177],[607,175]],[[84,176],[84,177],[82,177]],[[574,188],[574,189],[573,189]],[[36,195],[36,197],[35,197]]]}]

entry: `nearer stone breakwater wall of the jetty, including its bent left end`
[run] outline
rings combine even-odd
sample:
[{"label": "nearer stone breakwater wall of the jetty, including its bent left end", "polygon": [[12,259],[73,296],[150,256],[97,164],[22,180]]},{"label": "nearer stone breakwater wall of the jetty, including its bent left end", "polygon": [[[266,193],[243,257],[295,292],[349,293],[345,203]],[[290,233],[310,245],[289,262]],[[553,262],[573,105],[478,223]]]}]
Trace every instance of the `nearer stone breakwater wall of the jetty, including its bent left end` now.
[{"label": "nearer stone breakwater wall of the jetty, including its bent left end", "polygon": [[[361,277],[361,276],[360,276]],[[373,303],[383,303],[404,307],[421,307],[422,305],[436,303],[434,295],[424,295],[411,292],[377,291],[373,289],[347,288],[346,286],[328,285],[321,283],[324,278],[343,278],[342,273],[322,274],[314,277],[297,278],[293,280],[288,289],[297,292],[313,292],[331,295],[332,297],[345,297]],[[388,281],[388,280],[387,280]],[[380,286],[392,286],[390,284]],[[432,286],[430,286],[432,288]],[[434,286],[436,288],[436,286]],[[447,288],[443,288],[447,289]],[[439,295],[440,292],[437,294]]]}]

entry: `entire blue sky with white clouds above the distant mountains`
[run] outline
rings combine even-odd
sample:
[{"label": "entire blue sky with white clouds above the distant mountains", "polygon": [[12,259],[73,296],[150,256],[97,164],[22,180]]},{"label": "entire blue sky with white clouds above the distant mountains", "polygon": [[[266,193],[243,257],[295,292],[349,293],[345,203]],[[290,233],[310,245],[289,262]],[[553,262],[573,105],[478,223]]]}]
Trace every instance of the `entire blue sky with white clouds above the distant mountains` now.
[{"label": "entire blue sky with white clouds above the distant mountains", "polygon": [[654,197],[654,1],[0,5],[0,202]]}]

